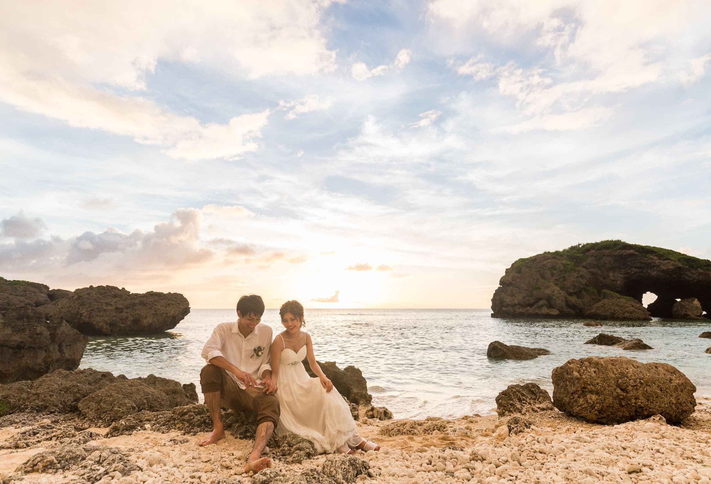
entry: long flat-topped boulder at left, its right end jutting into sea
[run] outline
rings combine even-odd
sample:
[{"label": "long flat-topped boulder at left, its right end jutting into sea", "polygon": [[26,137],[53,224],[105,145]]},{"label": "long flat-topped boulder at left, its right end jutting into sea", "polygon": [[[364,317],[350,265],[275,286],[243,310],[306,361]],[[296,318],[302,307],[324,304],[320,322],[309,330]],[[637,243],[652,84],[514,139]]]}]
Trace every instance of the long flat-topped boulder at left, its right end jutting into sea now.
[{"label": "long flat-topped boulder at left, its right end jutting into sea", "polygon": [[48,310],[84,335],[150,335],[176,327],[190,312],[190,303],[178,293],[134,294],[99,285],[77,289]]}]

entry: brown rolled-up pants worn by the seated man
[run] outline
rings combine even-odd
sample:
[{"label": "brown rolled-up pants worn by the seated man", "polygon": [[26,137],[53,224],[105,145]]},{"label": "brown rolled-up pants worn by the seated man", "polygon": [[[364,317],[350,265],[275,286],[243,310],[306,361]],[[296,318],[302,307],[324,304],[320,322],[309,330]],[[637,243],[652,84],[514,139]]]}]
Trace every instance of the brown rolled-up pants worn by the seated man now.
[{"label": "brown rolled-up pants worn by the seated man", "polygon": [[203,394],[219,391],[220,398],[230,409],[255,412],[257,425],[272,422],[274,428],[277,428],[279,400],[276,395],[267,395],[261,388],[247,387],[242,390],[224,369],[209,363],[200,372],[200,384],[203,387]]}]

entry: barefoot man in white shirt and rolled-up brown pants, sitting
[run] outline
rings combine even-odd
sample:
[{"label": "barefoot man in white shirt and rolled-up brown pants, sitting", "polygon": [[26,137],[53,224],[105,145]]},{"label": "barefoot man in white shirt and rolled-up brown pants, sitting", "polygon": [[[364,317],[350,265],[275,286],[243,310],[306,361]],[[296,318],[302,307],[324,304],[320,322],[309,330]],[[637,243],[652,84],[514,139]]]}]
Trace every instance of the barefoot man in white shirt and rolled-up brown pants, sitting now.
[{"label": "barefoot man in white shirt and rolled-up brown pants, sitting", "polygon": [[264,302],[260,296],[243,295],[237,302],[237,322],[218,325],[205,343],[202,356],[208,364],[200,372],[213,432],[199,445],[207,446],[225,438],[221,402],[235,411],[254,411],[257,433],[245,472],[255,473],[272,466],[269,458],[262,458],[262,452],[279,423],[277,386],[272,382],[269,365],[272,328],[260,324],[263,314]]}]

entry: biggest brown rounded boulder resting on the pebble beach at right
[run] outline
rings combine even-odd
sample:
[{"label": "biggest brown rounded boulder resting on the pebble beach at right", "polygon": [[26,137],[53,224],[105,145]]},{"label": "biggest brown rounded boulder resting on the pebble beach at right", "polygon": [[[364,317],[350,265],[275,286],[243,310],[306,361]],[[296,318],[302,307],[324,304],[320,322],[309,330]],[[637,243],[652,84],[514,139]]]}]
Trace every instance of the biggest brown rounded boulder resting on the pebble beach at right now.
[{"label": "biggest brown rounded boulder resting on the pebble beach at right", "polygon": [[666,363],[626,357],[570,359],[553,369],[553,404],[584,421],[623,423],[659,414],[680,422],[693,414],[696,387]]}]

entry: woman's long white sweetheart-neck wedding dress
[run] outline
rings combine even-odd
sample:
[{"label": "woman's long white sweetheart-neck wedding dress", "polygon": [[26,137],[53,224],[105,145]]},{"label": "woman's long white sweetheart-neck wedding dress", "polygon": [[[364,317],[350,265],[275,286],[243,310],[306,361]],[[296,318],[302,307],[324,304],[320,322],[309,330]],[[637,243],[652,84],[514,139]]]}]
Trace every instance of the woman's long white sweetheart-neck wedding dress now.
[{"label": "woman's long white sweetheart-neck wedding dress", "polygon": [[319,453],[336,451],[346,442],[358,446],[363,438],[358,436],[348,404],[335,387],[331,393],[326,393],[319,378],[309,377],[301,363],[305,357],[306,344],[299,352],[285,347],[279,358],[279,381],[276,383],[282,413],[277,436],[296,433],[313,442]]}]

